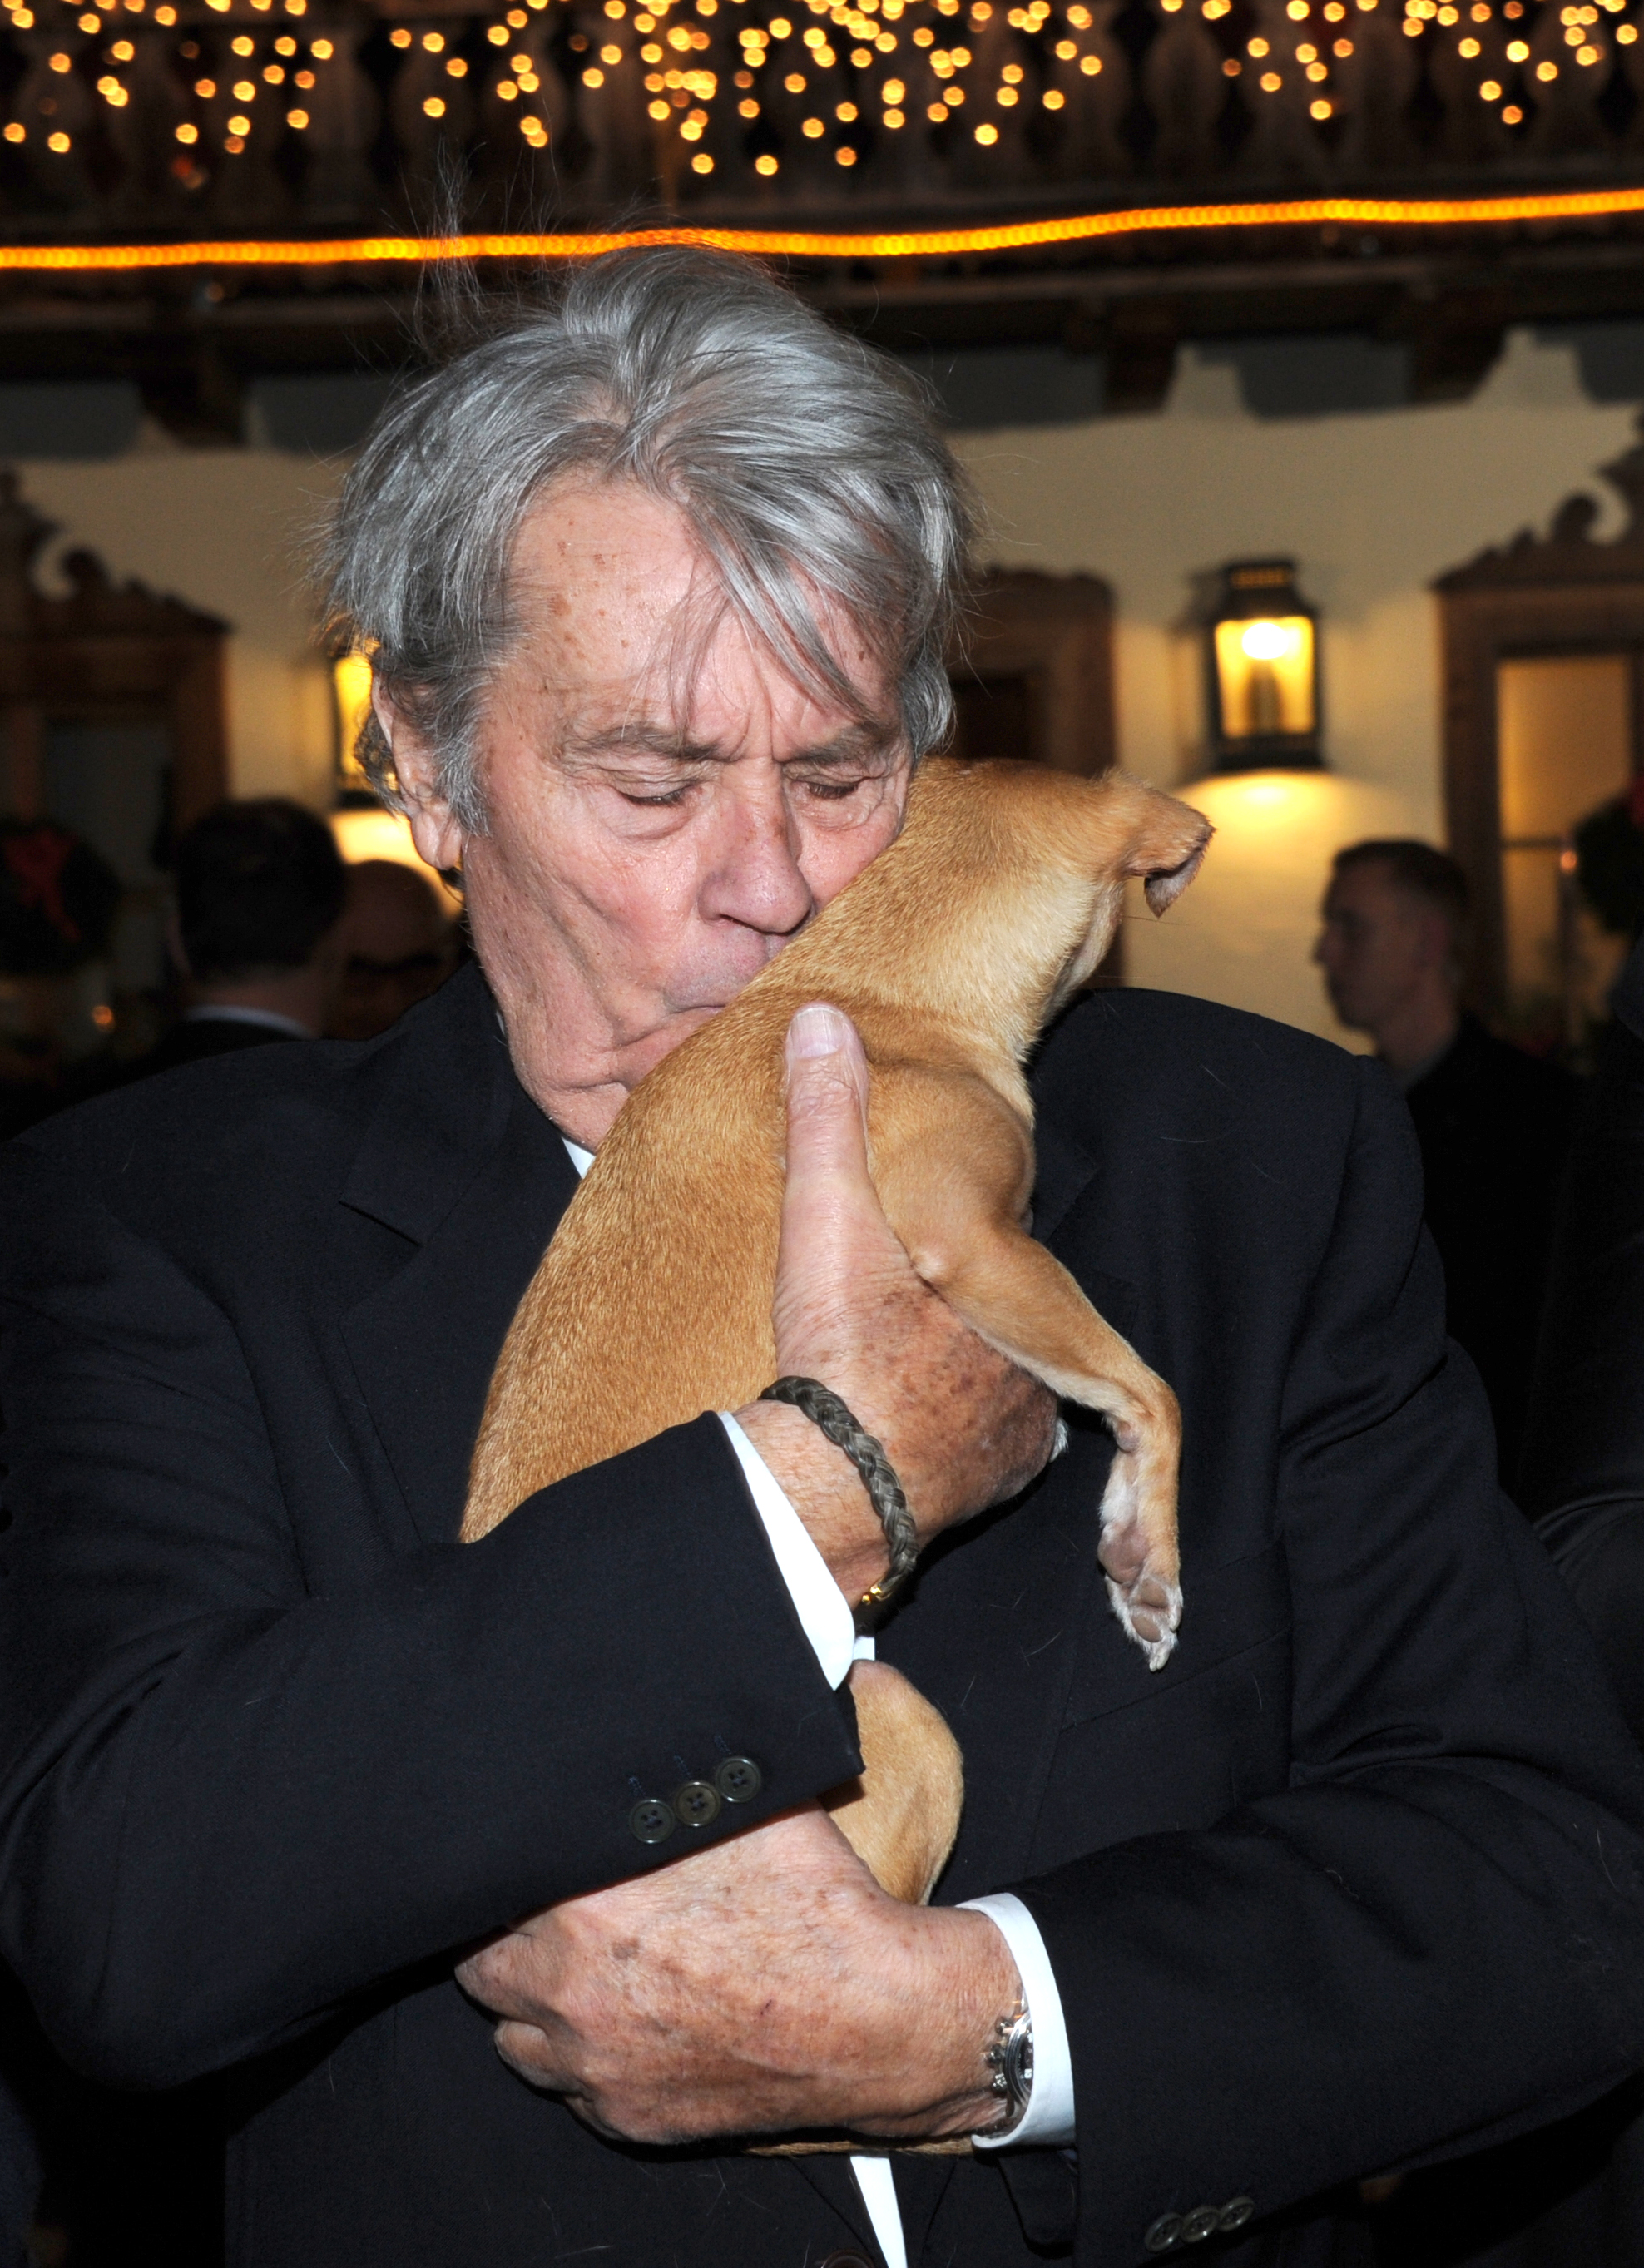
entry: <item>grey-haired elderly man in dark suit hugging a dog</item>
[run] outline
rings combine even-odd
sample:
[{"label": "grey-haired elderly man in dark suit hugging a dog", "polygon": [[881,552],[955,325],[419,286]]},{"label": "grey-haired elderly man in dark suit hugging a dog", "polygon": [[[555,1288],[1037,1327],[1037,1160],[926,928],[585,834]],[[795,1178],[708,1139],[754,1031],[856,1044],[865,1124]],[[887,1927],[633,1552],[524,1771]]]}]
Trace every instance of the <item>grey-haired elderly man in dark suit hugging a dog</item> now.
[{"label": "grey-haired elderly man in dark suit hugging a dog", "polygon": [[[1041,1052],[1036,1234],[1186,1411],[1150,1676],[1104,1433],[1048,1463],[884,1227],[853,1034],[796,1018],[778,1354],[932,1545],[880,1649],[966,1749],[937,1907],[812,1801],[884,1542],[800,1413],[456,1545],[576,1163],[893,839],[966,533],[921,401],[773,284],[583,268],[338,519],[365,753],[478,966],[5,1159],[2,1944],[77,2062],[220,2075],[245,2268],[1311,2263],[1342,2184],[1644,2062],[1637,1755],[1374,1066],[1147,993]],[[816,2130],[855,2157],[746,2148]]]}]

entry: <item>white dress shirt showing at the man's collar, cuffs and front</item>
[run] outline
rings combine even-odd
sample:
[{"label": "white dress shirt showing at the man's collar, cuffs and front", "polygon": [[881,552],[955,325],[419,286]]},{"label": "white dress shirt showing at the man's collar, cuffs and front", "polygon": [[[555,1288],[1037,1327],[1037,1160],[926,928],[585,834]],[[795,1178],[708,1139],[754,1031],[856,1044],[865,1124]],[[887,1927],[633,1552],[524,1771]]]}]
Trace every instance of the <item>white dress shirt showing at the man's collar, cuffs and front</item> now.
[{"label": "white dress shirt showing at the man's collar, cuffs and front", "polygon": [[[592,1150],[581,1150],[565,1141],[567,1154],[578,1175],[594,1163]],[[810,1529],[787,1501],[776,1474],[742,1431],[730,1411],[719,1413],[730,1447],[748,1483],[753,1508],[764,1524],[771,1556],[789,1588],[800,1628],[816,1653],[821,1674],[830,1685],[844,1685],[850,1662],[873,1660],[873,1640],[857,1637],[855,1619],[846,1594],[832,1579],[828,1560],[812,1542]],[[1018,2143],[1066,2146],[1073,2141],[1073,2057],[1068,2053],[1068,2028],[1061,2016],[1061,1994],[1050,1969],[1045,1941],[1039,1923],[1020,1898],[995,1892],[989,1898],[966,1898],[971,1912],[986,1914],[1011,1948],[1016,1973],[1023,1980],[1023,2000],[1034,2019],[1034,2091],[1023,2123],[1009,2141],[989,2143],[977,2139],[977,2150],[1002,2150]],[[1000,2014],[1007,2014],[1000,2009]],[[857,2177],[862,2202],[868,2209],[873,2234],[884,2252],[887,2268],[907,2268],[902,2243],[902,2216],[896,2202],[896,2180],[889,2157],[853,2157],[850,2170]]]}]

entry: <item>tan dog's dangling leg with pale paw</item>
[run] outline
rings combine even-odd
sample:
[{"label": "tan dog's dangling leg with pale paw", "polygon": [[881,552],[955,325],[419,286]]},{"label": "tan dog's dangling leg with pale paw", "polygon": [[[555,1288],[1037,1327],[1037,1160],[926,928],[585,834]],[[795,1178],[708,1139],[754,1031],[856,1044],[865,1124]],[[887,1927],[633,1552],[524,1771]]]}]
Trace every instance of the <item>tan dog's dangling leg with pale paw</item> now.
[{"label": "tan dog's dangling leg with pale paw", "polygon": [[[1100,1558],[1125,1631],[1163,1669],[1181,1622],[1177,1397],[1104,1322],[1068,1270],[1016,1220],[1027,1134],[980,1080],[893,1073],[914,1116],[939,1107],[943,1141],[875,1161],[891,1227],[921,1277],[1000,1354],[1068,1402],[1107,1417],[1116,1456],[1102,1495]],[[898,1098],[900,1100],[900,1098]],[[900,1111],[896,1114],[900,1118]],[[907,1170],[898,1170],[898,1161]],[[1011,1166],[1011,1159],[1016,1166]]]}]

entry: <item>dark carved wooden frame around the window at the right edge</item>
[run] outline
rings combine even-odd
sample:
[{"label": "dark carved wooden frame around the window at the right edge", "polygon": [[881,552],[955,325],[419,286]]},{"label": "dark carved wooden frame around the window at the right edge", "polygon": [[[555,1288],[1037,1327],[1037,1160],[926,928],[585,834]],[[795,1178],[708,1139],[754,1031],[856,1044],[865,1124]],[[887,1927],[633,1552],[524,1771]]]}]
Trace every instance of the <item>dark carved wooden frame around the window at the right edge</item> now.
[{"label": "dark carved wooden frame around the window at the right edge", "polygon": [[[1644,417],[1639,420],[1644,431]],[[1449,846],[1474,896],[1469,991],[1485,1014],[1506,1005],[1497,665],[1560,653],[1633,653],[1633,746],[1644,746],[1644,442],[1599,467],[1628,508],[1615,542],[1594,542],[1599,506],[1565,499],[1551,533],[1481,551],[1433,583],[1444,676]]]}]

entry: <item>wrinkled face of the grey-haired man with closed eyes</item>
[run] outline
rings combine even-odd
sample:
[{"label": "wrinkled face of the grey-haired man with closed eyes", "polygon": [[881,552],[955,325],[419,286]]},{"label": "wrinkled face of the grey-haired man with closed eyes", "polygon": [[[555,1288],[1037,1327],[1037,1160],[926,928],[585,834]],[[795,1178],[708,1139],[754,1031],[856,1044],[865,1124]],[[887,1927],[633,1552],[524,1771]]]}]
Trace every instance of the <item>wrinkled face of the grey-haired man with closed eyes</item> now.
[{"label": "wrinkled face of the grey-haired man with closed eyes", "polygon": [[[533,510],[515,621],[483,714],[488,832],[463,835],[404,726],[390,739],[420,780],[422,855],[463,866],[526,1084],[596,1141],[893,839],[909,758],[848,626],[834,653],[868,723],[800,692],[714,606],[683,515],[637,488],[565,483]],[[544,1086],[615,1100],[571,1125]]]}]

